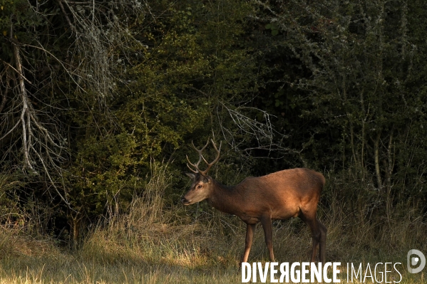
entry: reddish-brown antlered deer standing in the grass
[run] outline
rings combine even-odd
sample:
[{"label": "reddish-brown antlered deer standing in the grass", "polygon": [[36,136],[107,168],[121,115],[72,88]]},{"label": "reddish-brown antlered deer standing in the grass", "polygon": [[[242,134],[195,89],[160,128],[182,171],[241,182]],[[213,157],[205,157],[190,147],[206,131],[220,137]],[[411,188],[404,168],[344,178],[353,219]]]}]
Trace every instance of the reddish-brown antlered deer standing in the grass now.
[{"label": "reddish-brown antlered deer standing in the grass", "polygon": [[[327,230],[317,219],[317,204],[325,184],[323,174],[306,168],[284,169],[262,177],[247,177],[240,184],[226,186],[207,174],[220,159],[222,144],[221,142],[220,149],[217,149],[215,142],[211,142],[217,156],[210,163],[202,155],[209,139],[202,149],[197,149],[191,142],[193,149],[199,154],[199,160],[192,164],[187,156],[187,167],[192,172],[187,173],[187,176],[192,179],[192,184],[182,196],[182,204],[188,206],[206,199],[210,206],[225,214],[238,216],[246,223],[245,251],[240,265],[247,262],[257,223],[262,224],[269,259],[274,262],[272,220],[299,217],[312,233],[311,262],[316,261],[319,246],[319,261],[324,265]],[[207,164],[204,171],[199,169],[202,160]]]}]

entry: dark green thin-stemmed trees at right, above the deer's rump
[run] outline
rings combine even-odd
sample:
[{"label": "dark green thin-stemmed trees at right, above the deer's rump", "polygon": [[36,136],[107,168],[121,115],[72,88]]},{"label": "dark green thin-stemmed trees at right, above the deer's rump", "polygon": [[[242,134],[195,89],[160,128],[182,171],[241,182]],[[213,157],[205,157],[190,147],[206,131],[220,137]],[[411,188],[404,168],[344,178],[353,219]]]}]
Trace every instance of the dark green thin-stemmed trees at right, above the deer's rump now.
[{"label": "dark green thin-stemmed trees at right, above the deer's rump", "polygon": [[[260,12],[266,29],[285,35],[269,38],[269,56],[288,58],[291,68],[266,61],[274,93],[264,105],[284,116],[277,125],[295,133],[302,162],[350,171],[385,211],[402,198],[426,199],[422,4],[291,2]],[[295,125],[304,127],[297,133]]]}]

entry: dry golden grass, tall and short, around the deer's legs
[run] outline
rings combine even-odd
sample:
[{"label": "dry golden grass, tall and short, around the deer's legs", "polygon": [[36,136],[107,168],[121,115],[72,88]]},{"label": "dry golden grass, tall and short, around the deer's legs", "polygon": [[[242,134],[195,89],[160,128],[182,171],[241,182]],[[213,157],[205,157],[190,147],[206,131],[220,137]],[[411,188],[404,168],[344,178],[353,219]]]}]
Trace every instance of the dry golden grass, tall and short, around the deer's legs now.
[{"label": "dry golden grass, tall and short, around the deer's legs", "polygon": [[[163,189],[169,180],[165,170],[158,171],[128,214],[111,210],[74,251],[3,228],[0,283],[241,283],[244,223],[217,211],[195,221],[182,214],[182,206],[165,209]],[[344,209],[333,198],[328,209],[319,209],[329,230],[326,260],[341,262],[342,282],[346,263],[363,263],[365,268],[367,263],[400,262],[401,283],[427,283],[423,273],[406,271],[409,249],[427,252],[426,224],[412,217],[416,213],[407,210],[406,215],[374,222],[364,217],[363,208],[356,214]],[[273,237],[279,263],[309,260],[311,238],[299,219],[274,222]],[[268,261],[261,226],[249,256],[249,262],[258,261]],[[391,277],[399,279],[397,273]]]}]

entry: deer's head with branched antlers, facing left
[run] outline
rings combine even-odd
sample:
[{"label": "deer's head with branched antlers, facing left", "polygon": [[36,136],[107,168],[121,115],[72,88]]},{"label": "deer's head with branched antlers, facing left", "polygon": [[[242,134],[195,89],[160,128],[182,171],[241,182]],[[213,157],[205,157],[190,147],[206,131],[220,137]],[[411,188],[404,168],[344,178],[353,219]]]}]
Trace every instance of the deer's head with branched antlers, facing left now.
[{"label": "deer's head with branched antlers, facing left", "polygon": [[[196,164],[192,164],[192,162],[190,162],[190,159],[188,159],[188,156],[187,156],[188,163],[194,169],[192,169],[189,164],[187,164],[187,167],[194,174],[187,173],[187,176],[192,179],[192,184],[190,186],[190,190],[187,191],[185,196],[182,196],[181,202],[184,205],[190,205],[190,204],[194,204],[196,202],[205,200],[209,197],[210,192],[212,191],[212,177],[208,176],[207,172],[210,170],[212,165],[218,162],[218,160],[220,159],[222,142],[220,143],[220,149],[217,149],[215,142],[213,142],[213,140],[210,140],[210,141],[212,142],[212,145],[215,148],[215,151],[217,152],[217,157],[211,163],[207,162],[205,157],[203,157],[202,155],[203,150],[209,144],[209,140],[207,140],[205,147],[203,147],[200,150],[197,149],[195,145],[191,142],[192,147],[196,150],[197,153],[199,153],[199,161]],[[200,162],[202,162],[202,160],[207,164],[207,168],[204,171],[201,171],[199,169],[199,164]]]}]

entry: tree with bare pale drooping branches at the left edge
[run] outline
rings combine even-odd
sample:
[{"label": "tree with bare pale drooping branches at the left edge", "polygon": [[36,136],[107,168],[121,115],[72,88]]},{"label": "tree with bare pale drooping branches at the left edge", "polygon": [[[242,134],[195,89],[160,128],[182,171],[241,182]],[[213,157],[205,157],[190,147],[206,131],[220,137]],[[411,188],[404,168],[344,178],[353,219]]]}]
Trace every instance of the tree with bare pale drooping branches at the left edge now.
[{"label": "tree with bare pale drooping branches at the left edge", "polygon": [[72,112],[91,112],[97,102],[114,123],[106,100],[125,69],[115,62],[130,46],[133,54],[145,49],[128,27],[147,9],[138,1],[1,2],[0,167],[31,184],[24,196],[79,213],[66,180],[76,143],[70,130],[81,127]]}]

